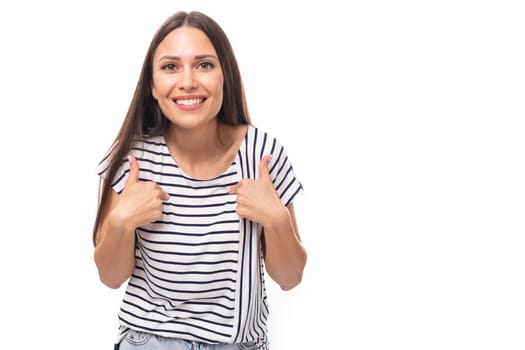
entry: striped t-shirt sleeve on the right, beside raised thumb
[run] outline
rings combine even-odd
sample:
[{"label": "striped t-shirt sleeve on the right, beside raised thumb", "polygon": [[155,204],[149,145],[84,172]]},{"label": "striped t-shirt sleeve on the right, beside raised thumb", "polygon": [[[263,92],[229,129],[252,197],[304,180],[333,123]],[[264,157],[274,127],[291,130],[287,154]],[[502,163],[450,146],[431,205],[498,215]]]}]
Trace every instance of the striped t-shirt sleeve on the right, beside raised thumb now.
[{"label": "striped t-shirt sleeve on the right, beside raised thumb", "polygon": [[284,205],[290,204],[298,195],[303,194],[303,185],[297,178],[284,147],[277,141],[269,170],[275,190]]}]

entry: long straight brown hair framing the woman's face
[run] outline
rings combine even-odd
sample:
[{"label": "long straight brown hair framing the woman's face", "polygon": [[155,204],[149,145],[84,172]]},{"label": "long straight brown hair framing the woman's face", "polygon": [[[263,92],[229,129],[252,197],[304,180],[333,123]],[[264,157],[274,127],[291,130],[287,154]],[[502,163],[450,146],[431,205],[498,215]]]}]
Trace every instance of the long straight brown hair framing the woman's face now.
[{"label": "long straight brown hair framing the woman's face", "polygon": [[153,56],[162,40],[174,29],[182,26],[202,30],[217,52],[224,75],[223,103],[217,115],[219,122],[230,125],[251,123],[237,59],[222,28],[212,18],[197,11],[189,13],[180,11],[170,16],[151,40],[128,112],[113,141],[111,158],[105,175],[106,180],[100,185],[100,199],[93,226],[93,245],[96,245],[96,237],[100,229],[102,213],[107,206],[111,183],[122,164],[122,159],[128,154],[131,143],[136,139],[162,135],[169,124],[169,120],[152,96]]}]

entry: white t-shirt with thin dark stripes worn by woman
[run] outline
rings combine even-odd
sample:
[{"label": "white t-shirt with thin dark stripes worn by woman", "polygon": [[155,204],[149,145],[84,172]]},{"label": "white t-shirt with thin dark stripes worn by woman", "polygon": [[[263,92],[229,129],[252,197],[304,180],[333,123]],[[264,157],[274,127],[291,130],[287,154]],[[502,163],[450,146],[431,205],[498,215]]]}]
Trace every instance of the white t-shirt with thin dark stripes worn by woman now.
[{"label": "white t-shirt with thin dark stripes worn by woman", "polygon": [[[135,270],[119,312],[120,332],[153,333],[207,343],[267,342],[261,225],[240,219],[228,188],[258,176],[271,153],[270,176],[284,205],[303,191],[281,144],[249,126],[235,160],[220,176],[194,179],[177,166],[162,136],[134,144],[139,179],[168,194],[160,220],[136,230]],[[104,177],[109,155],[97,172]],[[121,193],[129,173],[122,166],[112,187]]]}]

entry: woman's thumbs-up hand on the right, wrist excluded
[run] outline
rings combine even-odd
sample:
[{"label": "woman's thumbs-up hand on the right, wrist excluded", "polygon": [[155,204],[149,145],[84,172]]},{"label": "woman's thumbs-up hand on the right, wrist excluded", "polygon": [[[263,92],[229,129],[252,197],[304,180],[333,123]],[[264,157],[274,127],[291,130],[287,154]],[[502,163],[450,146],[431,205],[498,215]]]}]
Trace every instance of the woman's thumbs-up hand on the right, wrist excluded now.
[{"label": "woman's thumbs-up hand on the right, wrist excluded", "polygon": [[270,225],[284,208],[270,178],[271,157],[267,154],[261,159],[257,179],[242,179],[229,191],[237,195],[237,214],[263,226]]}]

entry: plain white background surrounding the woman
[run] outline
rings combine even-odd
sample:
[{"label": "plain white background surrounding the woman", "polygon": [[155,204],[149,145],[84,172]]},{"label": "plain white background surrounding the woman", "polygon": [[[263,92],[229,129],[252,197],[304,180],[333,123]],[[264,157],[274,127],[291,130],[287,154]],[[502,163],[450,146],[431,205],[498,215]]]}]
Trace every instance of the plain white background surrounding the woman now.
[{"label": "plain white background surrounding the woman", "polygon": [[306,189],[303,283],[268,285],[273,349],[523,350],[520,3],[3,2],[2,343],[112,348],[123,290],[92,259],[95,167],[154,31],[196,9]]}]

